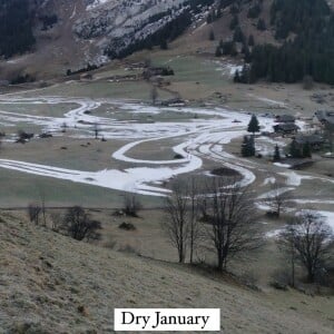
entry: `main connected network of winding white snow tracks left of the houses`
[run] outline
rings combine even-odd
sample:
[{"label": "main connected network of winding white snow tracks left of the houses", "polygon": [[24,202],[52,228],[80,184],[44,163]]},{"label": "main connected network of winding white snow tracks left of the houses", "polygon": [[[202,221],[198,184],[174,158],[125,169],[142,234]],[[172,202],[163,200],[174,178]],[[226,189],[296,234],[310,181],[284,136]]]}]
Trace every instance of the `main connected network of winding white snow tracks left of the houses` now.
[{"label": "main connected network of winding white snow tracks left of the houses", "polygon": [[[21,112],[6,111],[8,105],[57,105],[71,104],[78,107],[69,110],[62,117],[46,117]],[[189,117],[183,121],[121,121],[109,117],[94,116],[96,109],[105,104],[112,105],[118,110],[128,114],[158,115],[160,112],[185,112]],[[200,115],[200,119],[193,115]],[[237,121],[236,121],[237,120]],[[261,118],[264,129],[272,127],[273,119]],[[42,131],[60,132],[61,126],[76,129],[77,137],[89,138],[91,129],[98,125],[100,135],[106,139],[131,140],[117,151],[110,153],[114,159],[127,161],[132,165],[125,170],[105,169],[95,173],[71,170],[53,166],[29,164],[18,160],[0,159],[0,167],[28,174],[53,177],[75,183],[84,183],[110,189],[134,191],[143,195],[161,196],[167,189],[154,184],[161,183],[180,174],[190,173],[203,166],[203,158],[222,163],[228,168],[236,169],[242,174],[242,185],[249,185],[255,180],[252,166],[224,151],[224,145],[232,139],[246,134],[245,129],[249,121],[249,115],[234,112],[218,108],[170,108],[151,107],[138,102],[92,100],[60,97],[42,97],[18,99],[2,97],[0,99],[0,124],[3,126],[17,125],[18,122],[40,126]],[[144,160],[129,155],[129,150],[140,147],[145,143],[177,139],[178,145],[171,147],[175,154],[183,159],[174,160]],[[249,167],[249,168],[248,168]]]}]

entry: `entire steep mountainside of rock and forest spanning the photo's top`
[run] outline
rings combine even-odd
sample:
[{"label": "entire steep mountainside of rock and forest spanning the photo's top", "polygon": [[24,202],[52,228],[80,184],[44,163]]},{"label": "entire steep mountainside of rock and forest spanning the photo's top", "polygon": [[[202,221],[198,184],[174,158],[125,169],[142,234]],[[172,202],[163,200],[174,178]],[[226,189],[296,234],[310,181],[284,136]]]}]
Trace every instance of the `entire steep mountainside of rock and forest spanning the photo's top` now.
[{"label": "entire steep mountainside of rock and forest spanning the photo's top", "polygon": [[59,77],[171,47],[244,62],[239,82],[312,77],[333,85],[332,9],[330,0],[7,0],[0,80]]}]

